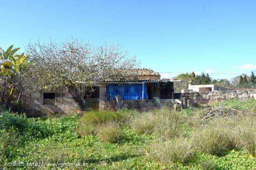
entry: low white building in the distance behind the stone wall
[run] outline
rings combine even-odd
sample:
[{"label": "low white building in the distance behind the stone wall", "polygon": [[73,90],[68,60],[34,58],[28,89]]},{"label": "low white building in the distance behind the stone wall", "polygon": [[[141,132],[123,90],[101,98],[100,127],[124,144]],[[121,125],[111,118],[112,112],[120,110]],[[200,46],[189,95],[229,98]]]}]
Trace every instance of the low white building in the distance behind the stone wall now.
[{"label": "low white building in the distance behind the stone wall", "polygon": [[194,92],[230,91],[230,90],[232,89],[222,87],[222,86],[217,86],[215,84],[189,85],[189,91],[194,91]]}]

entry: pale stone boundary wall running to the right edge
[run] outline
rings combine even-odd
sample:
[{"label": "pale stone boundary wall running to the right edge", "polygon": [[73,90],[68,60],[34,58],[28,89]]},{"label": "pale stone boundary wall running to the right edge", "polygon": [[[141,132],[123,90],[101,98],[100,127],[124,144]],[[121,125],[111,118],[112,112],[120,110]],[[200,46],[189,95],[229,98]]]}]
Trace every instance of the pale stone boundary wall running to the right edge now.
[{"label": "pale stone boundary wall running to the right edge", "polygon": [[232,90],[213,92],[191,92],[192,104],[206,104],[215,101],[239,99],[245,100],[256,97],[256,90]]}]

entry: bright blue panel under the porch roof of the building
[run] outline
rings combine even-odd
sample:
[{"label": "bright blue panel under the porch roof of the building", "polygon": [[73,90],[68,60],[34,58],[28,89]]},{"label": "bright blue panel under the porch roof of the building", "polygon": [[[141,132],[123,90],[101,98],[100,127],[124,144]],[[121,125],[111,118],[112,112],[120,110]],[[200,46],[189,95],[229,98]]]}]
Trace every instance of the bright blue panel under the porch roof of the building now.
[{"label": "bright blue panel under the porch roof of the building", "polygon": [[[116,95],[121,95],[123,100],[142,100],[142,84],[108,84],[107,99],[115,100]],[[144,84],[144,99],[148,99],[146,83]]]}]

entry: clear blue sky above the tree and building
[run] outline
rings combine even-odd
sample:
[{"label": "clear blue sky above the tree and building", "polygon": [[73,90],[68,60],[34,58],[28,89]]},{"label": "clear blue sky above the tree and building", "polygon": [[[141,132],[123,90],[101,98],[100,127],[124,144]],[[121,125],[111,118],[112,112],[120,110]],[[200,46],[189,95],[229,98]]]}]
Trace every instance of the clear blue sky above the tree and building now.
[{"label": "clear blue sky above the tree and building", "polygon": [[[0,47],[38,38],[121,44],[162,77],[256,71],[255,0],[1,0]],[[225,73],[225,74],[222,74]]]}]

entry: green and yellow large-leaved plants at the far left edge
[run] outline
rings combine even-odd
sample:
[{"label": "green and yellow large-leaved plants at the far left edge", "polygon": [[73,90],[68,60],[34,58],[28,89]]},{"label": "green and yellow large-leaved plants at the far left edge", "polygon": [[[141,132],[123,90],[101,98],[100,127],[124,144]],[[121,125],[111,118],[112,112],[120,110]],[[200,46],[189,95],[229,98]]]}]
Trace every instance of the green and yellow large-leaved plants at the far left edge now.
[{"label": "green and yellow large-leaved plants at the far left edge", "polygon": [[[7,50],[0,48],[0,104],[19,101],[23,88],[23,76],[32,61],[24,53],[17,54],[20,48]],[[7,107],[7,106],[6,106]]]}]

